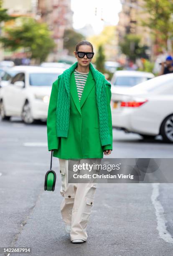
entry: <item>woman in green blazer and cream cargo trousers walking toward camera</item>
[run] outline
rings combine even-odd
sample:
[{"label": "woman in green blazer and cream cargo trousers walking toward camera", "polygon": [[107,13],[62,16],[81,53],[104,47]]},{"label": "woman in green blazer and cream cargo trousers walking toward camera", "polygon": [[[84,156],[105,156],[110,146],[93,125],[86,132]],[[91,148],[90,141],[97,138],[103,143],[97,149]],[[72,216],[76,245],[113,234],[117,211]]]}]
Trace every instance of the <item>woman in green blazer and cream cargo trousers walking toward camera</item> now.
[{"label": "woman in green blazer and cream cargo trousers walking toward camera", "polygon": [[66,232],[72,243],[83,243],[97,183],[68,183],[68,170],[74,164],[100,164],[103,153],[111,154],[111,84],[93,67],[90,42],[79,42],[74,55],[77,61],[53,82],[47,136],[48,150],[59,158]]}]

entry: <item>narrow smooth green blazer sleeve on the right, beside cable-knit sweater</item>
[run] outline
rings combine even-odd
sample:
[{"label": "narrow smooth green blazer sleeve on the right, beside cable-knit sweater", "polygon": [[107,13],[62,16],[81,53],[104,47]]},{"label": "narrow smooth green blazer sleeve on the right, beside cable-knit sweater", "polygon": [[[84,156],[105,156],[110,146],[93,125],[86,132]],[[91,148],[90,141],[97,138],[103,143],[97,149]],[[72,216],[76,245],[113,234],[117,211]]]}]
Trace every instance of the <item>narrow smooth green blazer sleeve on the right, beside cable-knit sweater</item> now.
[{"label": "narrow smooth green blazer sleeve on the right, beside cable-knit sweater", "polygon": [[107,95],[107,111],[108,111],[108,123],[109,123],[109,133],[111,138],[111,144],[102,146],[103,150],[111,149],[112,150],[112,115],[111,115],[111,84],[109,82],[106,83],[106,95]]}]

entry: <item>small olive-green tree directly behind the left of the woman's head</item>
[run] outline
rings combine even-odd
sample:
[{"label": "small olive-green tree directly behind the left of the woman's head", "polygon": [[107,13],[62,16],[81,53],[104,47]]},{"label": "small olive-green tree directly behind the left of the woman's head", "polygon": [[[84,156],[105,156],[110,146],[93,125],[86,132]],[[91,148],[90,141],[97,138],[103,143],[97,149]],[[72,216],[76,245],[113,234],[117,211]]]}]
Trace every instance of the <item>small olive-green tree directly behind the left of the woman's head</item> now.
[{"label": "small olive-green tree directly behind the left of the woman's head", "polygon": [[64,31],[64,49],[69,50],[69,55],[74,56],[74,46],[83,40],[86,40],[86,38],[72,29],[66,29]]}]

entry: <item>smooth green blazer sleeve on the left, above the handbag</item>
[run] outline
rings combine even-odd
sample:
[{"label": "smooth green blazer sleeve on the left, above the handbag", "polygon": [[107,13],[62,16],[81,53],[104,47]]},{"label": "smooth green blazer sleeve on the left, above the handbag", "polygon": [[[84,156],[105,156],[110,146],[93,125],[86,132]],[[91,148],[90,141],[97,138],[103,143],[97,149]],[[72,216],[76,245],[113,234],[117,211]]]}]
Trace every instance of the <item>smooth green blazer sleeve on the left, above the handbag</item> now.
[{"label": "smooth green blazer sleeve on the left, above the handbag", "polygon": [[58,149],[59,138],[56,134],[56,105],[59,90],[59,80],[57,79],[52,84],[51,97],[48,106],[47,117],[47,139],[48,139],[48,151],[52,149]]}]

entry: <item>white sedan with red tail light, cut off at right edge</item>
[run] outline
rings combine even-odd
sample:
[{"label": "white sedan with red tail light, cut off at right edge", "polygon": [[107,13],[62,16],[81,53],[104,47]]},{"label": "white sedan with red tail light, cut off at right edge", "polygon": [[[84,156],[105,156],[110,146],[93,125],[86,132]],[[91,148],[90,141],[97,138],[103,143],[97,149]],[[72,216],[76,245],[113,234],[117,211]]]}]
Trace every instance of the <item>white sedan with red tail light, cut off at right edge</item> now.
[{"label": "white sedan with red tail light, cut off at right edge", "polygon": [[137,84],[111,98],[112,127],[173,143],[173,74]]}]

